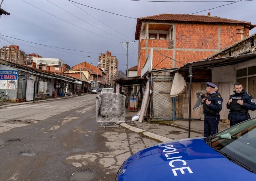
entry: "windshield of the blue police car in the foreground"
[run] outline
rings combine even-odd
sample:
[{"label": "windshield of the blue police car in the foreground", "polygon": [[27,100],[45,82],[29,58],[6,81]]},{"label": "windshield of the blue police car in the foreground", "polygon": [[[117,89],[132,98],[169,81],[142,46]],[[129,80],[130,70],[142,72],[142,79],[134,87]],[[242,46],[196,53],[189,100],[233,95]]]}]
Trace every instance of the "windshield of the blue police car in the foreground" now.
[{"label": "windshield of the blue police car in the foreground", "polygon": [[229,160],[256,173],[256,118],[212,136],[210,143]]}]

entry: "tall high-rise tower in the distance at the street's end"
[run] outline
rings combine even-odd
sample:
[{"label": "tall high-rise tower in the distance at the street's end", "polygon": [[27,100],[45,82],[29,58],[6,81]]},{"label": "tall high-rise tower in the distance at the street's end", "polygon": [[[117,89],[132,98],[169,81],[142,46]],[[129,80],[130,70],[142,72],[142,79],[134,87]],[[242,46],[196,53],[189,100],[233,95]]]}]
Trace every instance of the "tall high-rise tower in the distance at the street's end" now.
[{"label": "tall high-rise tower in the distance at the street's end", "polygon": [[107,51],[106,54],[99,56],[99,68],[105,69],[107,74],[107,83],[114,83],[113,80],[118,76],[118,60],[116,56],[111,56],[111,52]]}]

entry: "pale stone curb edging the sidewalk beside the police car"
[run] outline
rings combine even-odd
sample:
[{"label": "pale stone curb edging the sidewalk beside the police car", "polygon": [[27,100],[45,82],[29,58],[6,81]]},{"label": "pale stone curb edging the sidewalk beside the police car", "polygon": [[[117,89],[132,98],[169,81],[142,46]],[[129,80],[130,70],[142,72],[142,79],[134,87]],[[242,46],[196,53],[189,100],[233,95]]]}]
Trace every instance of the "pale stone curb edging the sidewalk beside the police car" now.
[{"label": "pale stone curb edging the sidewalk beside the police car", "polygon": [[120,123],[119,124],[120,126],[126,128],[126,129],[129,129],[131,131],[134,131],[136,133],[142,133],[142,135],[144,136],[148,136],[149,138],[151,139],[155,139],[155,140],[158,140],[160,142],[164,142],[164,141],[172,141],[172,139],[170,138],[166,138],[164,136],[160,136],[158,134],[155,134],[155,133],[151,133],[151,132],[148,132],[148,131],[145,131],[143,129],[140,129],[140,128],[137,128],[137,127],[132,127],[131,125],[128,125],[124,122]]}]

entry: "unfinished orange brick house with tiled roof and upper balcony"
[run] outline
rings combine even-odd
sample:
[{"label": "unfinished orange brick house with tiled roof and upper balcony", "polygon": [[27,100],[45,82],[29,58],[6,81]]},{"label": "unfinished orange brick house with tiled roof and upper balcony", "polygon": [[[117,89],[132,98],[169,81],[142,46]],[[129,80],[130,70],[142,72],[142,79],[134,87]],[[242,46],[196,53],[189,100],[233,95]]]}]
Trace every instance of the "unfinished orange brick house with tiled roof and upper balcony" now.
[{"label": "unfinished orange brick house with tiled roof and upper balcony", "polygon": [[243,40],[254,27],[250,22],[219,18],[210,13],[208,16],[160,14],[138,18],[135,32],[135,40],[139,40],[138,76],[142,76],[151,48],[152,69],[180,67]]}]

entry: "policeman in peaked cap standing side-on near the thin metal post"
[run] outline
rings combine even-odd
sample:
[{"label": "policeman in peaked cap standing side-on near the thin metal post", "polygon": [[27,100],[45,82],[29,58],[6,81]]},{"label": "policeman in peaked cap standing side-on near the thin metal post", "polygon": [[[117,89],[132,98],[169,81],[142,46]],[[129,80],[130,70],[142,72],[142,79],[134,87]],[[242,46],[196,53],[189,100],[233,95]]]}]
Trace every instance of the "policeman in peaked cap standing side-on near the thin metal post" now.
[{"label": "policeman in peaked cap standing side-on near the thin metal post", "polygon": [[217,85],[206,82],[206,98],[202,99],[204,109],[204,136],[218,133],[218,125],[220,120],[219,112],[222,109],[222,98],[218,92],[214,90]]}]

